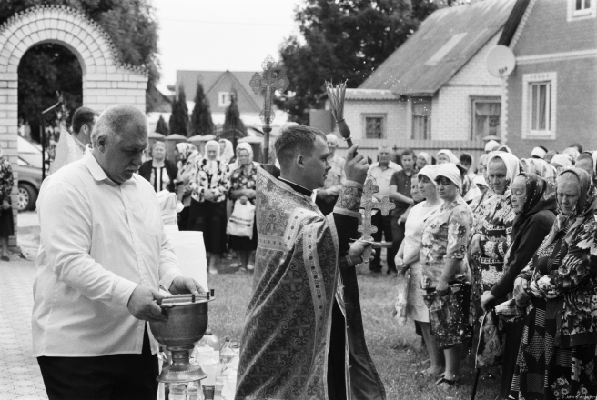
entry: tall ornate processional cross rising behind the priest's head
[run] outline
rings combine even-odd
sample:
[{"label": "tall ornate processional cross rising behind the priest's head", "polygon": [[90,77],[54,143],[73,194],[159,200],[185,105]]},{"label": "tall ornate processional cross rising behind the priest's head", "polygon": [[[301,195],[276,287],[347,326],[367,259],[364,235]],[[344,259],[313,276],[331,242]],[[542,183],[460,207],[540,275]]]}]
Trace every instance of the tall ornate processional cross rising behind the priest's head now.
[{"label": "tall ornate processional cross rising behind the priest's head", "polygon": [[271,116],[271,102],[274,92],[277,90],[284,92],[290,84],[290,81],[282,71],[278,70],[278,63],[271,55],[268,55],[263,63],[261,63],[261,68],[263,68],[263,75],[256,72],[251,78],[249,85],[256,95],[260,93],[265,95],[263,110],[261,110],[259,117],[261,118],[261,122],[264,124],[263,132],[265,133],[263,137],[263,153],[265,158],[264,164],[268,164],[269,132],[271,132],[271,126],[269,126],[269,123],[271,123],[273,119]]}]

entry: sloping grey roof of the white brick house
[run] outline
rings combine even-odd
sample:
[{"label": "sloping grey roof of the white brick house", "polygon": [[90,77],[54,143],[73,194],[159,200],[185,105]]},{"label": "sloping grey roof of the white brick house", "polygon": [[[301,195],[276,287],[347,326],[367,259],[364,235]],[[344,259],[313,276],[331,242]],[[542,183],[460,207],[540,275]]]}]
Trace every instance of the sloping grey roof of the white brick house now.
[{"label": "sloping grey roof of the white brick house", "polygon": [[433,95],[501,30],[515,3],[484,0],[441,8],[359,88],[386,89],[396,95]]}]

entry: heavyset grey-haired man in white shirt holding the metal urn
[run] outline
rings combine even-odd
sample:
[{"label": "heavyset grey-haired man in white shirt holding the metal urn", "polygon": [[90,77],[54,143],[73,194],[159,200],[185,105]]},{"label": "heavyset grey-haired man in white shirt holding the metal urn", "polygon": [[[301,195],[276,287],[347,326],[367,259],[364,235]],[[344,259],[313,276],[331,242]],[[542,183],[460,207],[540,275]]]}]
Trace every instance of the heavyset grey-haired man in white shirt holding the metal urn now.
[{"label": "heavyset grey-haired man in white shirt holding the metal urn", "polygon": [[203,289],[181,274],[157,196],[134,174],[147,119],[115,105],[97,120],[93,150],[42,185],[37,210],[34,355],[52,399],[155,399],[157,343],[172,294]]}]

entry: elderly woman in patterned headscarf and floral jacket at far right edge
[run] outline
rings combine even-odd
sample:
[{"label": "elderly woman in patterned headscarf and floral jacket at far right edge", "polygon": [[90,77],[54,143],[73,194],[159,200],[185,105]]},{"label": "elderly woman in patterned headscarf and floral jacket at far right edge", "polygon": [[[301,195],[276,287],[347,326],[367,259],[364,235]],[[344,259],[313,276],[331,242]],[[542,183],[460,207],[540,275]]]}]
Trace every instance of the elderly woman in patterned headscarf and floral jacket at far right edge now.
[{"label": "elderly woman in patterned headscarf and floral jacket at far right edge", "polygon": [[551,232],[514,283],[516,304],[530,306],[512,398],[597,396],[597,223],[591,175],[573,167],[562,171],[556,200]]}]

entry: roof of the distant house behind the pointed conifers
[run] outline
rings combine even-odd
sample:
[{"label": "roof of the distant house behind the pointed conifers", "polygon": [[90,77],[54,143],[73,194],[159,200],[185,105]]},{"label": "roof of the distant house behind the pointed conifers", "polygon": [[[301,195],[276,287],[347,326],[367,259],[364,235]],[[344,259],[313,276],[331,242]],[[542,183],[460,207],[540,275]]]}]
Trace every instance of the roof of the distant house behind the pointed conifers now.
[{"label": "roof of the distant house behind the pointed conifers", "polygon": [[261,108],[263,103],[262,95],[255,95],[253,89],[249,85],[251,78],[257,71],[181,71],[177,70],[177,84],[182,84],[185,88],[185,95],[187,100],[195,98],[195,91],[197,90],[197,81],[203,85],[203,90],[206,95],[214,87],[224,75],[230,74],[238,81],[238,89],[242,89],[255,101],[258,108]]}]

